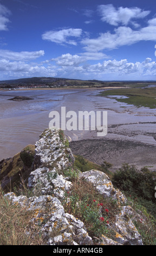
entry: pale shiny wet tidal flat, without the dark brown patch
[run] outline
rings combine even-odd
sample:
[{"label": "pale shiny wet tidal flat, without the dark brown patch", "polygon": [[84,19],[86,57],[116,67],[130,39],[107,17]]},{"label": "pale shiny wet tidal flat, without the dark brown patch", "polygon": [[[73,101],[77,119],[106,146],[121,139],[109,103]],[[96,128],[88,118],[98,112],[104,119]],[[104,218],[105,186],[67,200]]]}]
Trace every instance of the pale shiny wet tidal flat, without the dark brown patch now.
[{"label": "pale shiny wet tidal flat, without the dark brown patch", "polygon": [[[99,89],[21,90],[0,92],[0,160],[12,157],[34,144],[49,127],[49,113],[59,111],[107,111],[106,138],[129,139],[155,144],[156,109],[135,108],[115,99],[97,96]],[[14,96],[33,100],[10,101]],[[75,120],[77,121],[77,120]],[[96,131],[65,131],[69,140],[97,138]]]}]

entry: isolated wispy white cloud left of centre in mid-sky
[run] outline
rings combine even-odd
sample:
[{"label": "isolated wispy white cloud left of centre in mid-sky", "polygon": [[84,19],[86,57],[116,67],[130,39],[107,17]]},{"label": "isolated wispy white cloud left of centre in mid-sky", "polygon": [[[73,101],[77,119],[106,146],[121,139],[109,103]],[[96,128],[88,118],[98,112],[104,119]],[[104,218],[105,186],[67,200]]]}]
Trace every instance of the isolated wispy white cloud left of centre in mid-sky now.
[{"label": "isolated wispy white cloud left of centre in mid-sky", "polygon": [[81,28],[68,28],[62,29],[60,31],[48,31],[42,34],[43,40],[48,40],[51,42],[56,42],[58,44],[70,44],[77,45],[77,42],[74,40],[69,40],[70,37],[79,38],[82,34]]}]

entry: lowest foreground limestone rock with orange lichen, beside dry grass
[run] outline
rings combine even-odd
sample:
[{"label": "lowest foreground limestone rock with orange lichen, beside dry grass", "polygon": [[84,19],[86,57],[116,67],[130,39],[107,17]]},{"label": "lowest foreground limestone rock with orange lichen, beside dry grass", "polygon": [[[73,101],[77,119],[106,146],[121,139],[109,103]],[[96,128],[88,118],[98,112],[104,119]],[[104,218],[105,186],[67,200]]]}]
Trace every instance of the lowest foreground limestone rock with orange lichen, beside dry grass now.
[{"label": "lowest foreground limestone rock with orange lichen, beside dry grass", "polygon": [[27,211],[34,211],[31,221],[33,224],[40,222],[47,245],[93,245],[83,222],[76,220],[73,215],[65,214],[56,197],[16,197],[14,193],[7,193],[5,197],[13,204],[25,207]]}]

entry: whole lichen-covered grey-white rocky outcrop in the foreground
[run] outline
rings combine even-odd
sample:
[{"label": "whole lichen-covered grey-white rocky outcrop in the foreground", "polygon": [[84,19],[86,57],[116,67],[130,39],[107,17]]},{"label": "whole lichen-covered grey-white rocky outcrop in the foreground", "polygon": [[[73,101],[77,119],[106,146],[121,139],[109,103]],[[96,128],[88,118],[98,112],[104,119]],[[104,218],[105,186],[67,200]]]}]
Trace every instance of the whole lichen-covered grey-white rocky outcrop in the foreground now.
[{"label": "whole lichen-covered grey-white rocky outcrop in the foreground", "polygon": [[[65,211],[61,203],[64,195],[72,190],[73,183],[64,172],[72,170],[73,163],[74,156],[67,148],[66,137],[62,139],[59,131],[47,129],[35,144],[35,158],[28,178],[33,196],[5,194],[13,204],[34,212],[31,222],[40,224],[47,245],[94,245],[85,223]],[[96,245],[142,245],[142,237],[132,218],[135,216],[139,220],[142,216],[134,214],[124,194],[113,187],[109,177],[99,170],[89,170],[80,172],[78,179],[91,182],[103,198],[116,200],[120,209],[114,212],[113,222],[107,223],[112,237],[102,234]]]}]

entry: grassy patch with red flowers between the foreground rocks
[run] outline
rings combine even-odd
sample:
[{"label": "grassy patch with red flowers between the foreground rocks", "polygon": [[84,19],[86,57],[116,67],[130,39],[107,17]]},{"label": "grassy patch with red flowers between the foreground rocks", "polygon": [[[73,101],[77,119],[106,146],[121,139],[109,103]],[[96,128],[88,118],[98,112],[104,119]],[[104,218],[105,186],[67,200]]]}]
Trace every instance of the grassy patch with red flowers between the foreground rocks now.
[{"label": "grassy patch with red flowers between the foreground rocks", "polygon": [[72,190],[66,192],[62,199],[64,210],[85,223],[88,234],[93,240],[107,235],[111,238],[111,230],[107,224],[117,214],[119,205],[111,198],[103,198],[92,182],[85,179],[73,181]]}]

